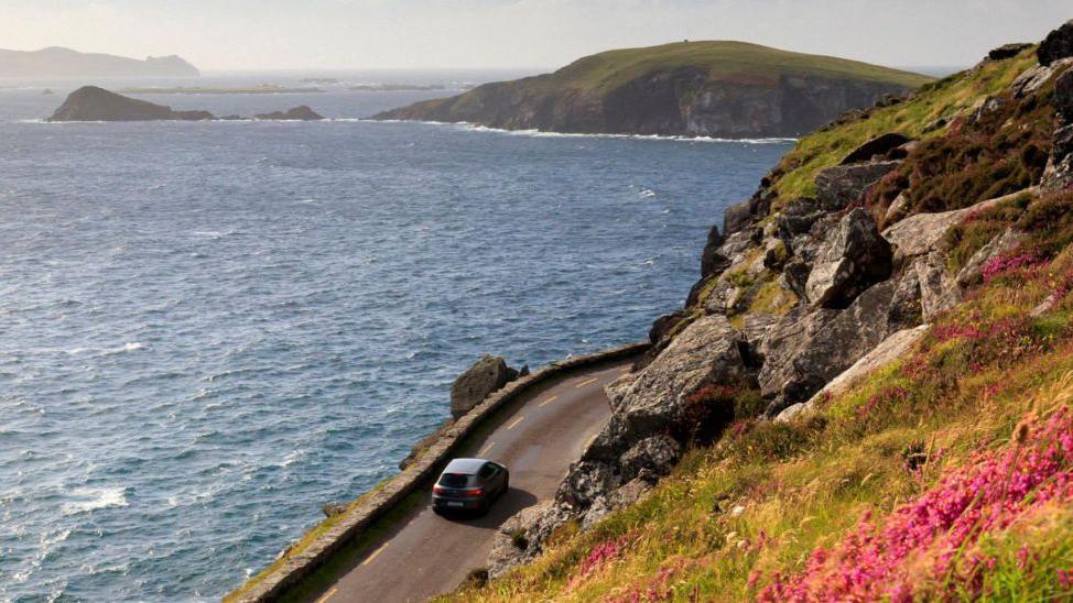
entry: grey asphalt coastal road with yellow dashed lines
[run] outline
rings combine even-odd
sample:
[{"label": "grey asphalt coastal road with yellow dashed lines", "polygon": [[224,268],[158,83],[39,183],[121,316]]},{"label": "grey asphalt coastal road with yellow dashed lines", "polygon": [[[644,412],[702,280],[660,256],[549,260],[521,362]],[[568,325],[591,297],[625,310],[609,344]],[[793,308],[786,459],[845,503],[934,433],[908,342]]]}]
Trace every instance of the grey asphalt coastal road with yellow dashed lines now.
[{"label": "grey asphalt coastal road with yellow dashed lines", "polygon": [[514,513],[551,498],[588,441],[610,415],[604,385],[629,361],[579,371],[524,394],[487,436],[459,456],[490,459],[510,469],[510,491],[479,518],[447,519],[427,503],[412,509],[348,559],[317,603],[424,601],[457,586],[485,566],[496,529]]}]

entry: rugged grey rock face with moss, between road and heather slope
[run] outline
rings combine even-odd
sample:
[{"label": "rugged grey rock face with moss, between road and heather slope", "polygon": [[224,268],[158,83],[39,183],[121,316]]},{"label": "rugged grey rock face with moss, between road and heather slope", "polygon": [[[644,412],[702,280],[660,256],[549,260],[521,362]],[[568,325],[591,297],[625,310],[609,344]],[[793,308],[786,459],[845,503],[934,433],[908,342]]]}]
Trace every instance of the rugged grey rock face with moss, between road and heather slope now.
[{"label": "rugged grey rock face with moss, between road and heather slope", "polygon": [[[816,407],[982,279],[1073,242],[1063,31],[1045,56],[1008,48],[802,140],[712,232],[686,307],[657,320],[653,354],[607,386],[607,426],[489,567],[531,559],[568,522],[595,525],[731,425]],[[1041,242],[1022,248],[1030,234]]]}]

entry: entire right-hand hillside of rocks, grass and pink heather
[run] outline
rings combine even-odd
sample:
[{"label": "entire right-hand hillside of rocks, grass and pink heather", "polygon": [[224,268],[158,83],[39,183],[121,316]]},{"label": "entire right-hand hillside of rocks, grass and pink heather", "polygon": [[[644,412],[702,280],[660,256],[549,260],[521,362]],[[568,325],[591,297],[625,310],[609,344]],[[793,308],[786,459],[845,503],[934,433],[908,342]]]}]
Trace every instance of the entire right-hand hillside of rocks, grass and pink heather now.
[{"label": "entire right-hand hillside of rocks, grass and pink heather", "polygon": [[1073,22],[802,139],[489,573],[554,553],[464,597],[1073,594],[1071,67]]}]

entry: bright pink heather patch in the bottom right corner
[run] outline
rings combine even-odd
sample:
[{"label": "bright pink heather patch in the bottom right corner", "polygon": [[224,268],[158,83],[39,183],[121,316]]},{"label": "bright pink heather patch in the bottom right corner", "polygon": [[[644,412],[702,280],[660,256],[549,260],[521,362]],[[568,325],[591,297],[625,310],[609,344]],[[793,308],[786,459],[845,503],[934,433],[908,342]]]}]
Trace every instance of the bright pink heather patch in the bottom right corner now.
[{"label": "bright pink heather patch in the bottom right corner", "polygon": [[[930,491],[896,508],[881,527],[866,513],[839,544],[815,549],[801,573],[776,573],[758,599],[911,601],[914,584],[929,575],[943,583],[949,572],[969,595],[979,594],[987,570],[997,562],[972,552],[982,536],[1049,502],[1073,502],[1073,417],[1062,408],[1043,425],[1031,425],[1027,443],[977,453],[973,462],[949,470]],[[1023,550],[1019,563],[1031,563]],[[1073,573],[1063,571],[1058,580],[1066,584]]]}]

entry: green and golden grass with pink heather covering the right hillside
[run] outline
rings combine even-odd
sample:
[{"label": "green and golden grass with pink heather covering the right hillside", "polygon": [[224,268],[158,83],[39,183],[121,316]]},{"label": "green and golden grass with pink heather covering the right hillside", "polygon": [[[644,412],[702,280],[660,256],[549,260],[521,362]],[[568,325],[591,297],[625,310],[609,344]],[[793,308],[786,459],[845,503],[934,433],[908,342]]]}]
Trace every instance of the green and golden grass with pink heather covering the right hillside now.
[{"label": "green and golden grass with pink heather covering the right hillside", "polygon": [[[989,64],[803,139],[780,193],[806,193],[867,138],[920,133],[1029,64]],[[912,353],[822,417],[739,421],[647,500],[590,531],[567,526],[533,564],[452,597],[1073,596],[1073,193],[983,212],[946,244],[967,257],[1014,223],[1032,233],[1029,251],[991,265]]]}]

